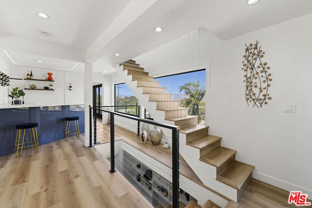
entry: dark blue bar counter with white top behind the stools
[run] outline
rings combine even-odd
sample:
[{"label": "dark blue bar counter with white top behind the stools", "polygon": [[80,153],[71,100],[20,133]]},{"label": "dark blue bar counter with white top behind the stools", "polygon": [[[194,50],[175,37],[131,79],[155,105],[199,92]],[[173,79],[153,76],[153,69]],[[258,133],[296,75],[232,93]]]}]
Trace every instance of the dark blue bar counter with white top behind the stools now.
[{"label": "dark blue bar counter with white top behind the stools", "polygon": [[[76,105],[0,105],[0,156],[14,153],[17,133],[15,126],[20,123],[38,123],[39,146],[65,138],[65,117],[79,116],[79,131],[84,133],[83,110]],[[25,137],[29,138],[28,131]]]}]

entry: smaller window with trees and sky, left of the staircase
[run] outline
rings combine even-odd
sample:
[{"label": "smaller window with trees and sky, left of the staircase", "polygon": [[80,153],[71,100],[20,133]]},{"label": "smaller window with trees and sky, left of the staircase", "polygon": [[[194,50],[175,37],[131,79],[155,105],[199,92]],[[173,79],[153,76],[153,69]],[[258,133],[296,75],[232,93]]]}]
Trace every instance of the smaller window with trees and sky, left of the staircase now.
[{"label": "smaller window with trees and sky, left of the staircase", "polygon": [[[138,100],[125,83],[115,85],[116,112],[138,115]],[[119,107],[120,106],[120,107]]]}]

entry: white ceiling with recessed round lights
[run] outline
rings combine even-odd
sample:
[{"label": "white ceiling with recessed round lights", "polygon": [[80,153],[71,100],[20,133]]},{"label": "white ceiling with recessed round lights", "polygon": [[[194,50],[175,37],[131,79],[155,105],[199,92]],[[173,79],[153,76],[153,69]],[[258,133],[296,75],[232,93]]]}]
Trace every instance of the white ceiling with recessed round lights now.
[{"label": "white ceiling with recessed round lights", "polygon": [[[37,12],[51,18],[41,19]],[[105,75],[199,27],[226,40],[311,12],[312,0],[254,5],[246,0],[0,0],[0,49],[16,63],[38,65],[32,63],[40,58],[42,66],[69,69],[87,61],[94,63],[95,74]],[[163,32],[153,31],[156,26]]]}]

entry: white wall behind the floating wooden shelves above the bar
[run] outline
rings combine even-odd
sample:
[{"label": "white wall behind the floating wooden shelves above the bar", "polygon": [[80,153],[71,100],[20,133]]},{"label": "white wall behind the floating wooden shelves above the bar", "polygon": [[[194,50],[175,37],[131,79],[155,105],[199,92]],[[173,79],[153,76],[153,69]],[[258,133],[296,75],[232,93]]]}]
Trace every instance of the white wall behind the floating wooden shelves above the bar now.
[{"label": "white wall behind the floating wooden shelves above the bar", "polygon": [[[47,72],[52,72],[54,82],[33,81],[33,80],[14,80],[15,85],[24,89],[27,85],[35,84],[37,88],[43,88],[48,84],[53,84],[54,91],[41,91],[41,90],[24,90],[25,104],[36,103],[37,105],[69,105],[69,104],[83,104],[83,83],[84,76],[82,73],[74,71],[64,71],[56,69],[45,69],[39,67],[29,67],[20,65],[11,65],[10,75],[14,78],[26,78],[27,71],[33,70],[34,79],[47,78]],[[69,91],[69,83],[72,83],[73,90]]]}]

